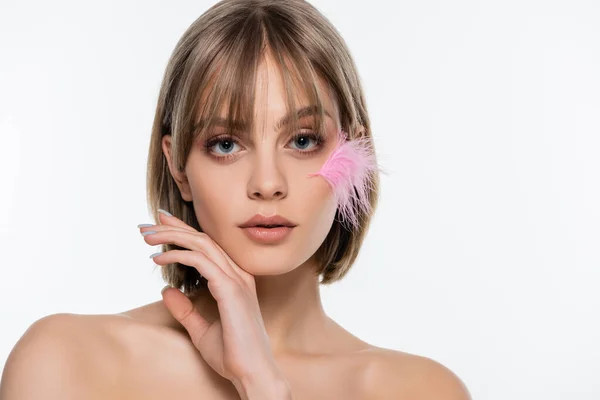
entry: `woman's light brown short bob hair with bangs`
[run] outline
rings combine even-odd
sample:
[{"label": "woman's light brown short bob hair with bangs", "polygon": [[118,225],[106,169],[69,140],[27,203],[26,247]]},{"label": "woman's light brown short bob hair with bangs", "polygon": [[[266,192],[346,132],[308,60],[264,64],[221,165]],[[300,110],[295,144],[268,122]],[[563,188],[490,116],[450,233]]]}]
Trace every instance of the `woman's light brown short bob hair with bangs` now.
[{"label": "woman's light brown short bob hair with bangs", "polygon": [[[266,52],[271,52],[280,65],[288,112],[295,110],[294,92],[299,87],[309,104],[316,105],[315,125],[322,133],[324,110],[317,83],[321,80],[338,105],[341,129],[349,140],[367,137],[373,144],[354,60],[340,34],[314,6],[303,0],[223,0],[190,25],[166,67],[147,165],[147,200],[156,221],[158,208],[162,208],[202,231],[193,203],[182,199],[171,176],[162,138],[172,136],[173,164],[183,171],[193,142],[210,133],[213,116],[223,101],[229,101],[228,131],[239,129],[242,121],[252,132],[255,75]],[[297,120],[294,115],[290,129],[297,129]],[[238,123],[234,125],[234,121]],[[356,260],[378,192],[379,174],[374,173],[367,192],[371,212],[358,213],[359,226],[355,229],[346,229],[339,220],[339,210],[336,212],[331,230],[312,256],[321,284],[341,279]],[[182,248],[162,245],[162,251],[172,249]],[[206,279],[194,268],[172,263],[161,270],[165,282],[188,297],[207,288]]]}]

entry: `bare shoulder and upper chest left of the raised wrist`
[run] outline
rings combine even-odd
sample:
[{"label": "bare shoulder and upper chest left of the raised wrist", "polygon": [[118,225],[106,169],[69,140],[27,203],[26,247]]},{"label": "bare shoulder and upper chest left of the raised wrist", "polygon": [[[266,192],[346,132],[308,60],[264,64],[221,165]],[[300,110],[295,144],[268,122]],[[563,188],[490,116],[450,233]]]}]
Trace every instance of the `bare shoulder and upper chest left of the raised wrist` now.
[{"label": "bare shoulder and upper chest left of the raised wrist", "polygon": [[35,321],[9,355],[0,400],[233,393],[235,388],[203,361],[187,333],[156,319],[149,307],[141,310],[53,314]]}]

